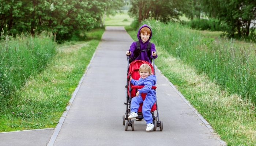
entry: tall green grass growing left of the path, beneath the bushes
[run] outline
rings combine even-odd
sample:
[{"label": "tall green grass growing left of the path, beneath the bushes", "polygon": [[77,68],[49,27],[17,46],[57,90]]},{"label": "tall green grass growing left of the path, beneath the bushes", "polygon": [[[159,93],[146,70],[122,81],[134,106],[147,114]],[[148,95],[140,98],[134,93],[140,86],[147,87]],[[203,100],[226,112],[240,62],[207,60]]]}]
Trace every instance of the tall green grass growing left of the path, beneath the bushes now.
[{"label": "tall green grass growing left of the path, beneath the bushes", "polygon": [[3,35],[0,40],[0,107],[56,54],[51,33]]}]

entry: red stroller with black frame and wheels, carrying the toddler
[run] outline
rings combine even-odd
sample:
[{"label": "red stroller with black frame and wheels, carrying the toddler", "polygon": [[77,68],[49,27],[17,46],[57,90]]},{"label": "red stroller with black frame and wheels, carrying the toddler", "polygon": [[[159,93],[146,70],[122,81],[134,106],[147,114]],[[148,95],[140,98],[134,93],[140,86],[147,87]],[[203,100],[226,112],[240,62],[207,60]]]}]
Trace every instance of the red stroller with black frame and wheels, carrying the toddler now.
[{"label": "red stroller with black frame and wheels, carrying the toddler", "polygon": [[[134,120],[132,119],[129,119],[128,120],[128,114],[130,114],[131,112],[131,101],[132,101],[132,98],[135,97],[138,89],[141,89],[143,88],[144,86],[133,86],[131,84],[131,82],[129,81],[129,76],[132,76],[132,78],[134,80],[139,80],[140,78],[140,75],[139,75],[139,68],[140,68],[140,65],[142,64],[148,64],[151,66],[151,70],[152,70],[152,73],[155,74],[155,62],[154,62],[154,57],[153,57],[153,66],[147,62],[147,61],[144,61],[144,60],[135,60],[133,62],[131,62],[131,64],[129,64],[129,57],[127,56],[127,61],[128,61],[128,67],[127,67],[127,84],[125,86],[126,88],[126,103],[124,103],[126,105],[126,112],[125,112],[125,115],[123,115],[123,125],[125,126],[125,131],[127,131],[128,129],[128,126],[131,126],[132,128],[132,131],[134,130]],[[156,91],[156,88],[155,86],[152,87],[152,89],[154,89]],[[146,93],[142,93],[141,96],[142,96],[142,99],[144,100],[145,97],[146,97]],[[128,105],[129,105],[129,108],[128,108]],[[142,115],[142,105],[143,104],[140,104],[140,107],[138,109],[138,117],[136,119],[143,119],[143,115]],[[157,110],[157,116],[154,115],[154,111]],[[153,130],[156,131],[157,130],[157,127],[160,127],[160,131],[163,130],[163,122],[159,120],[159,113],[158,113],[158,108],[157,108],[157,100],[155,101],[155,104],[152,106],[151,108],[151,114],[152,114],[152,118],[153,118],[153,124],[154,124],[154,128]]]}]

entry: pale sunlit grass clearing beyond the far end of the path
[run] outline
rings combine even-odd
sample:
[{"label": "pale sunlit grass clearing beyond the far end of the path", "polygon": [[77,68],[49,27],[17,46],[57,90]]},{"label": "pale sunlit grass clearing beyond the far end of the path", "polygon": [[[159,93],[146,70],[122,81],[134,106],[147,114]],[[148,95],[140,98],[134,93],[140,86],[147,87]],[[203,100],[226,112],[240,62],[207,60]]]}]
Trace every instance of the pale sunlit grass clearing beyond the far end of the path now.
[{"label": "pale sunlit grass clearing beyond the far end of the path", "polygon": [[133,18],[127,14],[127,11],[123,11],[123,13],[118,13],[114,16],[106,16],[105,26],[129,26]]}]

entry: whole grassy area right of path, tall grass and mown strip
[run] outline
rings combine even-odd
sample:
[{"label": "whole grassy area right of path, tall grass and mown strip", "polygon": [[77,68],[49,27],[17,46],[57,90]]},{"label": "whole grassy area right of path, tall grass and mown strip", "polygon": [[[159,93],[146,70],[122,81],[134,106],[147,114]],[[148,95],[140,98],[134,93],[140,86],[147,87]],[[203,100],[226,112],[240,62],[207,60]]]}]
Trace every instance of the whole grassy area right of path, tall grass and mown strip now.
[{"label": "whole grassy area right of path, tall grass and mown strip", "polygon": [[[153,30],[156,65],[221,139],[256,145],[254,45],[214,40],[174,23],[144,23]],[[137,30],[128,33],[137,39]]]}]

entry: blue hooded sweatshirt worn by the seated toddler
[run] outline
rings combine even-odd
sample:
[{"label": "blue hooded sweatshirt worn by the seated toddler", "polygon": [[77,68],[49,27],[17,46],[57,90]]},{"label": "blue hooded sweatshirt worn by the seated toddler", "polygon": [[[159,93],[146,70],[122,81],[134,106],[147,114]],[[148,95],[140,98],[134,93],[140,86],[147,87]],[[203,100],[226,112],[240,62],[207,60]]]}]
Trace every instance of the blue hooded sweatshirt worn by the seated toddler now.
[{"label": "blue hooded sweatshirt worn by the seated toddler", "polygon": [[150,75],[147,78],[142,79],[141,77],[139,78],[139,80],[131,80],[131,83],[133,85],[141,85],[144,86],[142,89],[139,89],[138,91],[140,93],[148,93],[151,91],[151,93],[153,92],[153,94],[155,94],[156,92],[154,91],[154,89],[151,89],[152,86],[155,86],[155,84],[157,83],[157,76],[155,75]]}]

